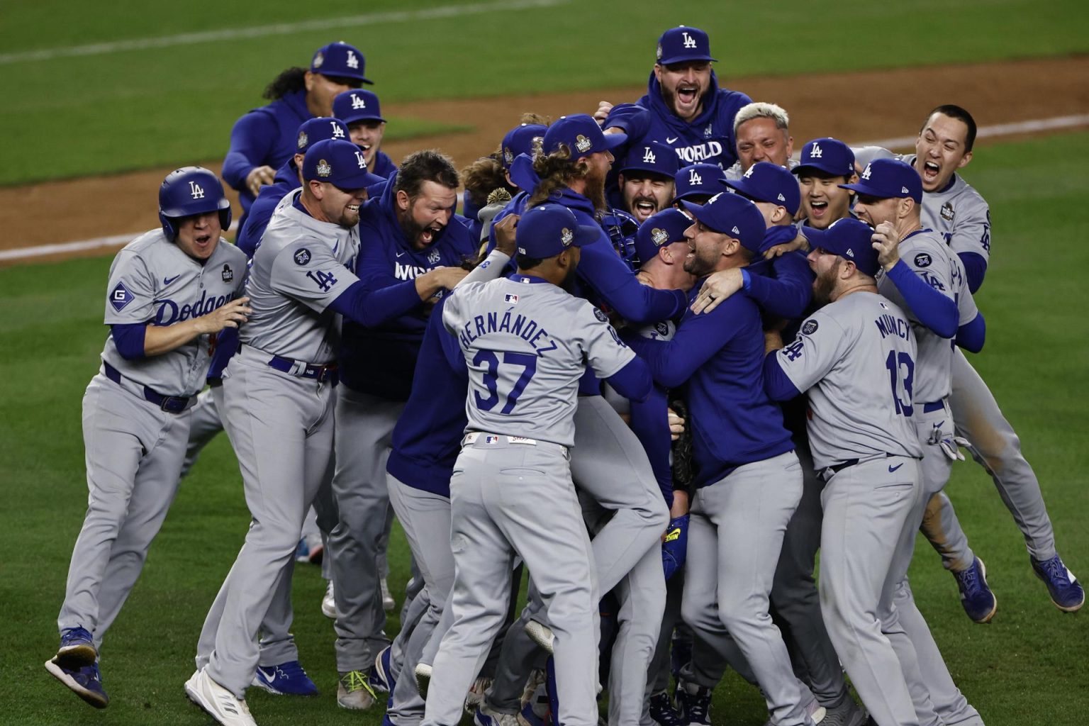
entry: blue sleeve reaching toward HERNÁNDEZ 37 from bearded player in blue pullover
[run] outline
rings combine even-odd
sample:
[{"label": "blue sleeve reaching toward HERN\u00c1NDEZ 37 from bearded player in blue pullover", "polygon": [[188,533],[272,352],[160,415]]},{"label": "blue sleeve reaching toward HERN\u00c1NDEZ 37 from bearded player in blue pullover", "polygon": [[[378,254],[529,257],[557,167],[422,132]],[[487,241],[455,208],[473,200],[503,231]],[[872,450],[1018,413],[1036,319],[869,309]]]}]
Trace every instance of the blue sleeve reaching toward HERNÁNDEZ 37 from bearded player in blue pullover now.
[{"label": "blue sleeve reaching toward HERN\u00c1NDEZ 37 from bearded player in blue pullover", "polygon": [[675,389],[692,378],[736,334],[737,327],[732,324],[736,317],[736,305],[731,304],[733,299],[727,299],[711,312],[685,316],[672,341],[651,341],[628,334],[624,336],[624,342],[647,360],[656,383]]}]

